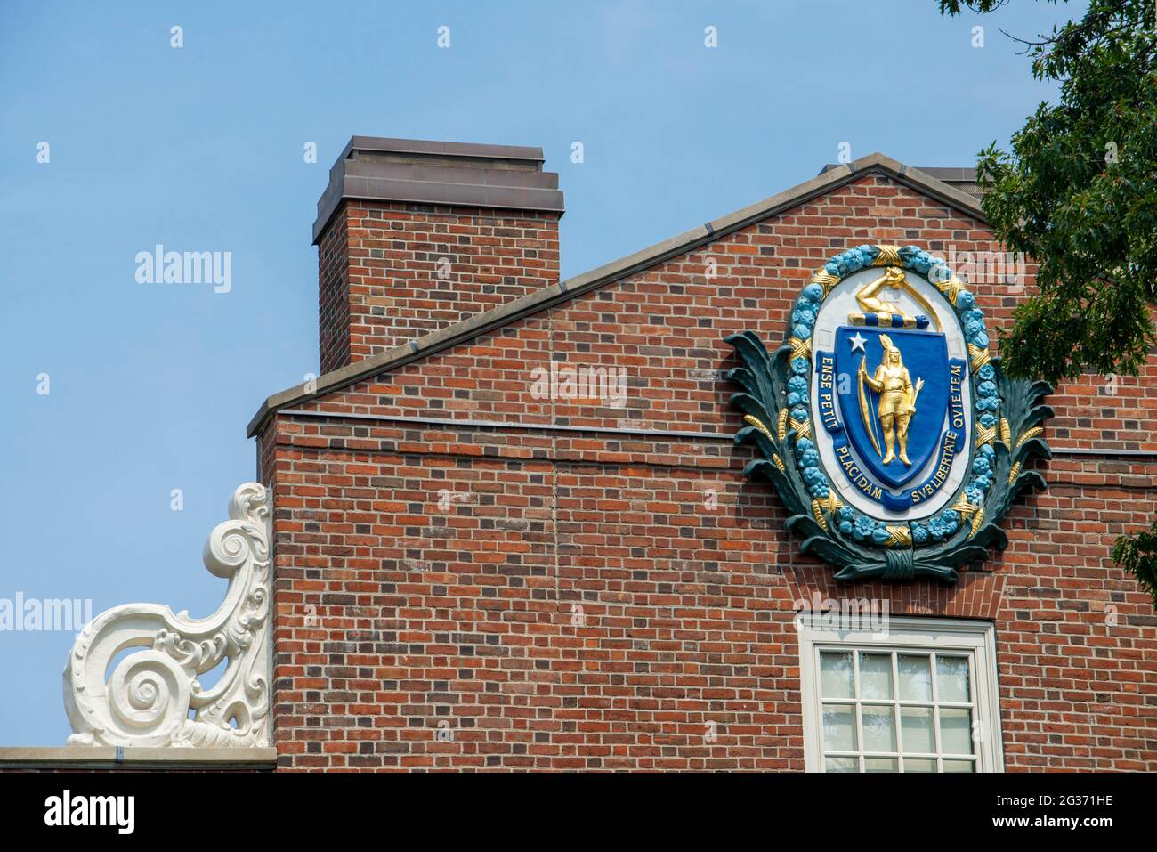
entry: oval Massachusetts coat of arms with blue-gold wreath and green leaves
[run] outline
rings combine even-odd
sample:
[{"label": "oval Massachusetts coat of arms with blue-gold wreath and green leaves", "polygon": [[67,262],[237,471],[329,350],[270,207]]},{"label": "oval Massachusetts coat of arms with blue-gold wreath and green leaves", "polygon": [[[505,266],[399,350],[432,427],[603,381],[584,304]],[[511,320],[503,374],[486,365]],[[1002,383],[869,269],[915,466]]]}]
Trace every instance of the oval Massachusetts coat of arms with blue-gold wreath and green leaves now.
[{"label": "oval Massachusetts coat of arms with blue-gold wreath and green leaves", "polygon": [[975,296],[915,245],[860,245],[816,272],[768,352],[731,335],[736,442],[761,458],[802,550],[840,580],[957,579],[1007,545],[1014,499],[1049,456],[1044,382],[1003,375]]}]

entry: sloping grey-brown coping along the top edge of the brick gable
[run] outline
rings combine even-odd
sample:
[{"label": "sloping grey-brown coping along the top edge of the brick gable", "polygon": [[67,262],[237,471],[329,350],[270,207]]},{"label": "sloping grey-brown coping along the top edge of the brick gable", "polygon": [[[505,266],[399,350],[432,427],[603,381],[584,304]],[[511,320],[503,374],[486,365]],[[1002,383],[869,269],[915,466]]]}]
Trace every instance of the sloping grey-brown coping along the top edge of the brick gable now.
[{"label": "sloping grey-brown coping along the top edge of the brick gable", "polygon": [[[933,171],[933,170],[929,170]],[[845,184],[857,181],[868,175],[885,175],[897,183],[916,190],[921,194],[946,204],[961,213],[987,222],[983,211],[980,208],[980,199],[957,185],[968,183],[964,178],[965,169],[935,169],[942,172],[945,179],[929,174],[921,169],[905,166],[880,153],[869,154],[845,166],[827,167],[818,176],[806,181],[798,186],[793,186],[779,194],[765,198],[762,201],[738,210],[714,221],[700,225],[678,236],[672,236],[661,243],[656,243],[633,255],[612,260],[598,269],[584,272],[574,278],[568,278],[557,285],[543,287],[533,293],[529,293],[521,299],[501,304],[498,308],[476,314],[462,322],[448,325],[433,331],[429,335],[411,340],[401,346],[396,346],[388,352],[379,352],[376,355],[355,361],[341,369],[336,369],[319,376],[315,383],[312,392],[307,391],[305,384],[282,390],[266,399],[253,419],[249,421],[246,435],[253,436],[260,432],[266,421],[278,411],[278,409],[300,405],[301,403],[317,399],[318,397],[332,394],[341,388],[349,387],[364,379],[388,373],[398,367],[404,367],[412,361],[426,358],[429,354],[440,352],[459,343],[471,340],[480,335],[485,335],[495,329],[508,325],[522,317],[537,314],[561,302],[569,301],[575,296],[589,293],[604,285],[618,281],[622,278],[655,266],[672,257],[677,257],[687,251],[693,251],[709,242],[718,240],[732,232],[758,222],[767,216],[782,213],[783,211],[797,207],[805,201],[831,192]],[[951,175],[949,175],[951,172]],[[959,174],[957,174],[959,172]],[[957,185],[952,185],[957,184]]]}]

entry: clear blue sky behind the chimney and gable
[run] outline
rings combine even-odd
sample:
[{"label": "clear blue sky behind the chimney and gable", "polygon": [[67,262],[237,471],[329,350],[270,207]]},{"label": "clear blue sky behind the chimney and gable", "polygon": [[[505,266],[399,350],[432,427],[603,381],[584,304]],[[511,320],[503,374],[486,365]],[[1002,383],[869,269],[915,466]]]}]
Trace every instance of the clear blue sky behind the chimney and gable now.
[{"label": "clear blue sky behind the chimney and gable", "polygon": [[[541,146],[569,277],[813,177],[840,142],[913,166],[1005,142],[1054,90],[997,27],[1081,7],[937,6],[3,2],[0,598],[216,608],[200,553],[255,476],[244,427],[317,370],[310,227],[351,135]],[[157,243],[230,251],[231,289],[139,284]],[[0,632],[0,746],[64,743],[72,642]]]}]

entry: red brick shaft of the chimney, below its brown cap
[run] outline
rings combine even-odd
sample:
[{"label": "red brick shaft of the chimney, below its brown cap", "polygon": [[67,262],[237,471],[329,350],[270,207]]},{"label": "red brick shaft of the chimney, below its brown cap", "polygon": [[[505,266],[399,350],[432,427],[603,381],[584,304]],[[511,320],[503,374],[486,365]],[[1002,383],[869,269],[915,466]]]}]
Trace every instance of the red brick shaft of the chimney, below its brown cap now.
[{"label": "red brick shaft of the chimney, below its brown cap", "polygon": [[558,284],[559,214],[346,201],[318,280],[329,373]]}]

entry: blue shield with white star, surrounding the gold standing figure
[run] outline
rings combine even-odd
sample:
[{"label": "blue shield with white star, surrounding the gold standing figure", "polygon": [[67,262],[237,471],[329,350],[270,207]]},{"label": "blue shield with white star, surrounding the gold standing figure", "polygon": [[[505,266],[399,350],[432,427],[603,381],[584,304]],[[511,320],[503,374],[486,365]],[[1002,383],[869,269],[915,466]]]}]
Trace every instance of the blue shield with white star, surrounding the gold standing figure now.
[{"label": "blue shield with white star, surrounding the gold standing figure", "polygon": [[[900,461],[898,440],[897,458],[887,464],[883,463],[887,449],[879,417],[880,395],[860,377],[861,366],[871,377],[883,361],[880,335],[887,335],[900,350],[913,387],[923,380],[916,397],[916,412],[908,419],[907,455],[911,465]],[[840,414],[856,455],[882,485],[898,489],[909,483],[928,463],[933,453],[937,451],[944,432],[949,403],[948,341],[944,335],[908,329],[841,325],[835,330],[835,372],[840,376],[837,382]],[[893,423],[893,434],[898,427],[899,424]]]}]

